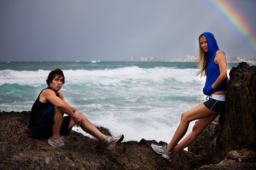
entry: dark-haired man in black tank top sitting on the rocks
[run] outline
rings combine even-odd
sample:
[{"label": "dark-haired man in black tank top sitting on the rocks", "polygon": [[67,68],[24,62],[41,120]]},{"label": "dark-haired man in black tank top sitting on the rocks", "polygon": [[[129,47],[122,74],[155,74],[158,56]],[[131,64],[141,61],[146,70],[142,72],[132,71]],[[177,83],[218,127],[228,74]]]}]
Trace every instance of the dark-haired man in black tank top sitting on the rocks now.
[{"label": "dark-haired man in black tank top sitting on the rocks", "polygon": [[[118,137],[103,135],[83,113],[64,100],[59,92],[65,83],[62,70],[52,70],[46,83],[48,87],[40,92],[31,109],[28,127],[34,137],[50,137],[48,143],[51,146],[61,146],[64,145],[64,140],[60,136],[67,136],[72,127],[77,125],[85,132],[109,144],[120,143],[124,139],[124,135]],[[63,117],[64,113],[68,116]]]}]

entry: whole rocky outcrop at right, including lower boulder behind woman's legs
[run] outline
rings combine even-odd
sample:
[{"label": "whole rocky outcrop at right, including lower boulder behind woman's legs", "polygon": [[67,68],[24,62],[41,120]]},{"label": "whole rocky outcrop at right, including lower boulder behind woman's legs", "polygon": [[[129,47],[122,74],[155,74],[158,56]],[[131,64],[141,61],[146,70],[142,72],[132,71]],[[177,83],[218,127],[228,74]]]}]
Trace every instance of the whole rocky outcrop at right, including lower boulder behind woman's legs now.
[{"label": "whole rocky outcrop at right, including lower boulder behind woman's legs", "polygon": [[[212,122],[206,127],[188,147],[188,151],[202,156],[204,164],[217,165],[233,150],[256,151],[256,66],[239,63],[229,76],[225,114],[220,116],[219,123]],[[234,161],[237,160],[225,160],[218,165],[223,167]]]}]

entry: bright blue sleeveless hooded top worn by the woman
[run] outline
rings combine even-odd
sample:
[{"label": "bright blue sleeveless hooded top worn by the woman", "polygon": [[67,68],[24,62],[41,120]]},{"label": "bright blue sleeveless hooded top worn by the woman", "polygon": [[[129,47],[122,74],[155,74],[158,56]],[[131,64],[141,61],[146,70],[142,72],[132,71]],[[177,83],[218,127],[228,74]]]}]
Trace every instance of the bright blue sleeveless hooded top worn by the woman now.
[{"label": "bright blue sleeveless hooded top worn by the woman", "polygon": [[[206,56],[207,71],[206,71],[206,81],[204,85],[203,92],[205,95],[211,95],[214,92],[226,91],[227,78],[215,89],[212,89],[213,83],[220,76],[219,64],[214,63],[215,54],[219,49],[217,41],[215,40],[212,33],[205,32],[201,35],[206,37],[208,52]],[[226,62],[227,64],[227,62]]]}]

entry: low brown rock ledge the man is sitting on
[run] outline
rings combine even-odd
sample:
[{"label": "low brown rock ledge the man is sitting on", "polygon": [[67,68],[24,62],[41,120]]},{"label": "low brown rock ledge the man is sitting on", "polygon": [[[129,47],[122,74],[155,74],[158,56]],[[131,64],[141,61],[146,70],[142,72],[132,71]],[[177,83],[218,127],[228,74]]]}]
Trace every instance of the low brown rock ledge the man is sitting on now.
[{"label": "low brown rock ledge the man is sitting on", "polygon": [[[167,162],[141,139],[108,145],[71,130],[54,148],[27,128],[30,112],[0,112],[0,169],[194,169],[201,156],[182,151]],[[160,142],[160,144],[164,144]],[[159,145],[160,145],[159,144]]]}]

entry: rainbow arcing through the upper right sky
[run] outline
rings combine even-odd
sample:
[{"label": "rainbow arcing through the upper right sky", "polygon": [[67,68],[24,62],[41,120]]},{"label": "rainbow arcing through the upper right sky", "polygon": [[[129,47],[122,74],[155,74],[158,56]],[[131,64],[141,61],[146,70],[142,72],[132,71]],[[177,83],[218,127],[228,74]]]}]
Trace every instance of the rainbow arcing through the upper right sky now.
[{"label": "rainbow arcing through the upper right sky", "polygon": [[229,22],[236,32],[248,43],[252,53],[256,55],[256,37],[250,23],[243,18],[234,5],[223,0],[208,0],[214,8]]}]

